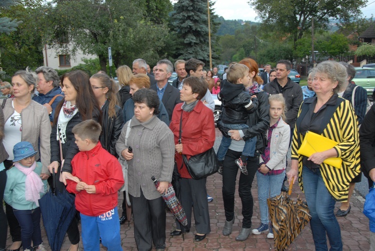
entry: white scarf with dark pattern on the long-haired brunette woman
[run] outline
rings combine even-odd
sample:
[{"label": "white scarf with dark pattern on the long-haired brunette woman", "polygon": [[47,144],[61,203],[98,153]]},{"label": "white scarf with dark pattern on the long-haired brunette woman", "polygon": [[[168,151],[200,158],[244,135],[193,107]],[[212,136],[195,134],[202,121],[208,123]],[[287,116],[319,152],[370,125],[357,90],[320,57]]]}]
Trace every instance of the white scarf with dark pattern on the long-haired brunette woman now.
[{"label": "white scarf with dark pattern on the long-haired brunette woman", "polygon": [[66,125],[72,117],[78,112],[76,105],[71,105],[70,101],[64,101],[64,104],[61,107],[60,113],[58,114],[57,119],[57,130],[56,130],[56,139],[61,140],[61,144],[66,142]]}]

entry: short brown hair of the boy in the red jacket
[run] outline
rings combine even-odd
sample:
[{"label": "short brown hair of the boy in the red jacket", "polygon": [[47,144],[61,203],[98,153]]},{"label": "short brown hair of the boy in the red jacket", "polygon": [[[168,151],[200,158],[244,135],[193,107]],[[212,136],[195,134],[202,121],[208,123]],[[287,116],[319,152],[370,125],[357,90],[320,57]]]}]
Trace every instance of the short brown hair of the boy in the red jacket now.
[{"label": "short brown hair of the boy in the red jacket", "polygon": [[101,125],[93,119],[87,119],[76,124],[71,132],[82,140],[89,139],[96,144],[99,141]]}]

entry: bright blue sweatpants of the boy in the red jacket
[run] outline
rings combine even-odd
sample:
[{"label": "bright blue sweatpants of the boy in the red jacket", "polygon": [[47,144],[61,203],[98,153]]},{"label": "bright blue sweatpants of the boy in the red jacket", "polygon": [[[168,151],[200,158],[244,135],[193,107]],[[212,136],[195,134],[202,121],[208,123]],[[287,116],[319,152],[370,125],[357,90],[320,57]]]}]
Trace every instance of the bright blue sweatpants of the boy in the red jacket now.
[{"label": "bright blue sweatpants of the boy in the red jacket", "polygon": [[100,238],[108,251],[122,251],[117,208],[100,216],[80,214],[80,221],[84,251],[99,251]]}]

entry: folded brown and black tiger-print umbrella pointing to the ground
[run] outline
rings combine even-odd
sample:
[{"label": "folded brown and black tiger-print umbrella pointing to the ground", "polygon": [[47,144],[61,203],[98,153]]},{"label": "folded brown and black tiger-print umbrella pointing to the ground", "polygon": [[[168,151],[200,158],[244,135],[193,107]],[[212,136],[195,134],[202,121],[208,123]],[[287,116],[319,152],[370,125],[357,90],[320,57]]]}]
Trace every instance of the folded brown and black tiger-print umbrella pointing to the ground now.
[{"label": "folded brown and black tiger-print umbrella pointing to the ground", "polygon": [[292,186],[293,181],[290,182],[287,196],[283,192],[267,199],[274,248],[277,251],[285,251],[311,219],[306,202],[299,196],[296,202],[289,199]]}]

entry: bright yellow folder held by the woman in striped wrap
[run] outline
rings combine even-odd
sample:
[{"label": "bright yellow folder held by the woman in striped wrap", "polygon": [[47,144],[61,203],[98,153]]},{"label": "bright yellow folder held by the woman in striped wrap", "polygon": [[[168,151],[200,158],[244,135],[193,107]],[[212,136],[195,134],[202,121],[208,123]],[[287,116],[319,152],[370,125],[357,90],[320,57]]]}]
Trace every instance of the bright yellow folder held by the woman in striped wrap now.
[{"label": "bright yellow folder held by the woman in striped wrap", "polygon": [[[310,157],[313,153],[323,152],[325,150],[331,149],[338,143],[336,141],[330,140],[313,132],[306,132],[303,138],[302,144],[298,149],[298,154]],[[334,166],[336,168],[341,167],[341,158],[328,158],[323,161],[323,163]]]}]

